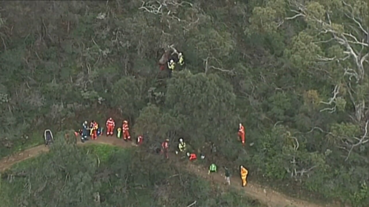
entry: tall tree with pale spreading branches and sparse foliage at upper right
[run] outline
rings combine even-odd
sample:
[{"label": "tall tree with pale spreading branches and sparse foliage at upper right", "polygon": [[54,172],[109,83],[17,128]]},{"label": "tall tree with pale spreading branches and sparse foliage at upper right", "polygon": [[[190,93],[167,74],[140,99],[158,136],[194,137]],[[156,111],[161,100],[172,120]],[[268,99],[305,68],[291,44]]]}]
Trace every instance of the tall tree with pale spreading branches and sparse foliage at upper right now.
[{"label": "tall tree with pale spreading branches and sparse foliage at upper right", "polygon": [[[321,103],[339,104],[337,95],[340,93],[340,87],[343,86],[355,107],[355,120],[360,122],[365,114],[365,102],[368,102],[366,97],[369,89],[367,81],[369,16],[365,12],[368,3],[356,0],[330,1],[325,4],[310,1],[307,4],[301,4],[292,0],[289,4],[290,12],[295,15],[286,19],[302,17],[310,27],[308,32],[317,35],[317,40],[309,41],[309,44],[315,48],[326,49],[324,53],[315,51],[308,53],[313,55],[320,64],[328,64],[326,66],[328,73],[333,78],[333,82],[336,82],[330,101]],[[335,107],[332,110],[335,110]]]}]

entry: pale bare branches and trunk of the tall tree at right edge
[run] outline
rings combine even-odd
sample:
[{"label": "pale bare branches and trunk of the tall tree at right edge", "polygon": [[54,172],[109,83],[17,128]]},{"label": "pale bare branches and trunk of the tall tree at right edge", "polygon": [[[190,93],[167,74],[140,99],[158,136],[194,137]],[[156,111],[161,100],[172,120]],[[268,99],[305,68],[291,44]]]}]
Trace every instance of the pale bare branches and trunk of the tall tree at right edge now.
[{"label": "pale bare branches and trunk of the tall tree at right edge", "polygon": [[[344,5],[344,11],[345,16],[352,20],[355,24],[355,27],[351,26],[352,31],[354,31],[354,34],[351,32],[342,32],[337,29],[337,26],[332,23],[331,17],[329,12],[326,12],[326,18],[325,20],[321,18],[317,18],[314,15],[312,15],[309,11],[306,10],[306,7],[296,0],[289,0],[289,3],[294,9],[291,9],[290,11],[295,13],[292,17],[286,17],[286,20],[293,20],[297,17],[304,17],[305,20],[315,22],[313,27],[314,29],[318,31],[318,35],[320,34],[330,34],[331,39],[325,40],[325,41],[318,41],[315,43],[327,43],[331,41],[335,41],[339,45],[341,45],[344,48],[344,58],[337,58],[337,57],[322,57],[317,55],[317,60],[325,61],[325,62],[331,62],[331,61],[337,61],[340,63],[341,61],[349,60],[349,57],[351,57],[352,63],[354,64],[353,67],[347,68],[344,71],[342,71],[343,76],[348,76],[349,81],[353,81],[352,77],[355,77],[356,83],[360,83],[365,78],[365,67],[364,63],[369,63],[368,57],[369,53],[369,28],[364,26],[363,20],[358,17],[358,14],[354,12],[354,8],[346,3],[344,0],[342,0],[342,4]],[[364,28],[366,27],[366,28]],[[368,40],[366,40],[368,39]],[[361,46],[361,50],[358,50],[357,46]],[[346,66],[347,67],[347,66]],[[350,89],[352,90],[352,88]],[[337,91],[338,92],[338,91]],[[351,94],[355,94],[355,91],[349,91]],[[335,95],[332,98],[329,99],[328,102],[321,102],[324,104],[327,103],[335,103]],[[355,106],[355,118],[356,121],[360,121],[363,117],[363,109],[365,108],[365,101],[362,97],[359,97],[359,99],[355,99],[354,96],[350,95],[351,102]],[[335,111],[335,106],[332,108],[325,108],[322,109],[322,111],[329,110],[331,113]]]}]

